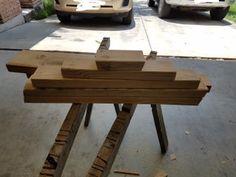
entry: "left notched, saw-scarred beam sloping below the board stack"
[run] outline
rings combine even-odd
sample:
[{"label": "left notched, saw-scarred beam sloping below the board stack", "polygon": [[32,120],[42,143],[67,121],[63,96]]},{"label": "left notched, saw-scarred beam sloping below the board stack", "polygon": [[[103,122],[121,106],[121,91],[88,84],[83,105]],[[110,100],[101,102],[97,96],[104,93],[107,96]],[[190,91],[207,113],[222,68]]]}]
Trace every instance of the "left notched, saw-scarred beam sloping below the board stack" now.
[{"label": "left notched, saw-scarred beam sloping below the board stack", "polygon": [[61,176],[85,109],[85,104],[72,104],[44,162],[40,177]]}]

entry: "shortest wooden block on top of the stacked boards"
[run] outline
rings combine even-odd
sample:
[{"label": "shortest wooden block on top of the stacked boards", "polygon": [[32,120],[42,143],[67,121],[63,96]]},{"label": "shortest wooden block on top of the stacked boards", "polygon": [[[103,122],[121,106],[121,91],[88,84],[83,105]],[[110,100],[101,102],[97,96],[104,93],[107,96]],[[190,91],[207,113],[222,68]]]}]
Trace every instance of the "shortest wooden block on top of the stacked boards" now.
[{"label": "shortest wooden block on top of the stacked boards", "polygon": [[96,64],[103,71],[140,71],[145,63],[142,51],[98,50]]}]

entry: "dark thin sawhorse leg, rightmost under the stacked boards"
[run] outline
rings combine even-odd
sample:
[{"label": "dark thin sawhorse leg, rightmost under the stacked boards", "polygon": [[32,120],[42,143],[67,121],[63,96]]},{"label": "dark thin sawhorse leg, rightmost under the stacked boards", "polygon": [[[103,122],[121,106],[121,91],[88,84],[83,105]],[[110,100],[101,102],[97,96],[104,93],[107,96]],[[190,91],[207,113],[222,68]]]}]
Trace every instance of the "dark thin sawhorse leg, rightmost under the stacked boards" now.
[{"label": "dark thin sawhorse leg, rightmost under the stacked boards", "polygon": [[167,151],[168,139],[166,134],[165,123],[162,115],[161,105],[151,104],[154,123],[157,130],[158,139],[161,146],[161,152]]}]

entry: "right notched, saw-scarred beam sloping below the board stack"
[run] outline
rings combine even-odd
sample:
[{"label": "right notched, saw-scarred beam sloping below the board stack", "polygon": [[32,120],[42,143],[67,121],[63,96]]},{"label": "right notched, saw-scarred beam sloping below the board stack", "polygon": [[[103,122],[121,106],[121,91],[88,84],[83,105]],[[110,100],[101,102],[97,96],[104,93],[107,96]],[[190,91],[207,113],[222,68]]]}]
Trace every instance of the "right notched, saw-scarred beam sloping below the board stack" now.
[{"label": "right notched, saw-scarred beam sloping below the board stack", "polygon": [[124,104],[86,177],[106,177],[119,150],[136,105]]}]

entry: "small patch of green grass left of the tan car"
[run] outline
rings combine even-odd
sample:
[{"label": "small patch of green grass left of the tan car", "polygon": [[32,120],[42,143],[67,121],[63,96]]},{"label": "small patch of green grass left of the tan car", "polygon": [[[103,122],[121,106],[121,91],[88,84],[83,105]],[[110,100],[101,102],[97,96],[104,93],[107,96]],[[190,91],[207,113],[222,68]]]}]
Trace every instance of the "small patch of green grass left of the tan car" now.
[{"label": "small patch of green grass left of the tan car", "polygon": [[34,19],[41,20],[55,13],[53,0],[43,0],[43,10],[36,10]]}]

